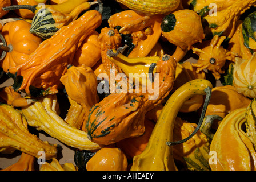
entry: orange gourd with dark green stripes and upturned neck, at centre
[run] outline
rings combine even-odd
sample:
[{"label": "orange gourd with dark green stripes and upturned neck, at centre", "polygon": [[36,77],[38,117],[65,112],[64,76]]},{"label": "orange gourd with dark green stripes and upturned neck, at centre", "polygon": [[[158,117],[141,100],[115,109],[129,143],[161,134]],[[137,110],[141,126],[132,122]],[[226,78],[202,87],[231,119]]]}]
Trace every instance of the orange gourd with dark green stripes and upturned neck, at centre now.
[{"label": "orange gourd with dark green stripes and upturned neck, at centre", "polygon": [[95,143],[111,144],[145,133],[145,113],[170,93],[176,66],[173,57],[163,55],[157,61],[157,77],[152,87],[146,88],[144,92],[142,88],[127,90],[125,83],[122,85],[122,92],[111,93],[91,107],[86,122],[89,139]]}]

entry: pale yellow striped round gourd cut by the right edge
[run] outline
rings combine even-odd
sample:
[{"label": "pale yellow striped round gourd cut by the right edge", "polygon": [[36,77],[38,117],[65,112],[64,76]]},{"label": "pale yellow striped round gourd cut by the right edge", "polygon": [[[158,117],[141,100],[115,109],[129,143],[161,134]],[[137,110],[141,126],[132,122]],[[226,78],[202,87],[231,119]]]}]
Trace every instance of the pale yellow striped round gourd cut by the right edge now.
[{"label": "pale yellow striped round gourd cut by the right edge", "polygon": [[243,60],[240,57],[235,58],[233,85],[239,93],[249,98],[256,97],[255,62],[255,53],[249,60]]}]

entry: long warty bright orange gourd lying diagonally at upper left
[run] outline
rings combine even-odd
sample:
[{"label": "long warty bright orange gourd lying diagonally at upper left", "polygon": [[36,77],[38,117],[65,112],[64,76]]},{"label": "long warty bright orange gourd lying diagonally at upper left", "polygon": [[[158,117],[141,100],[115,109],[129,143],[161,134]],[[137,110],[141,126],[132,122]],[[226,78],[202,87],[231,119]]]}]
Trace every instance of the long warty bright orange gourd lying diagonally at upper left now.
[{"label": "long warty bright orange gourd lying diagonally at upper left", "polygon": [[9,72],[19,76],[22,81],[15,90],[24,90],[31,95],[30,89],[33,87],[47,93],[57,93],[61,83],[59,79],[67,71],[67,65],[72,63],[75,51],[83,39],[101,24],[101,17],[99,11],[86,11],[79,19],[44,40],[25,63],[10,68]]}]

